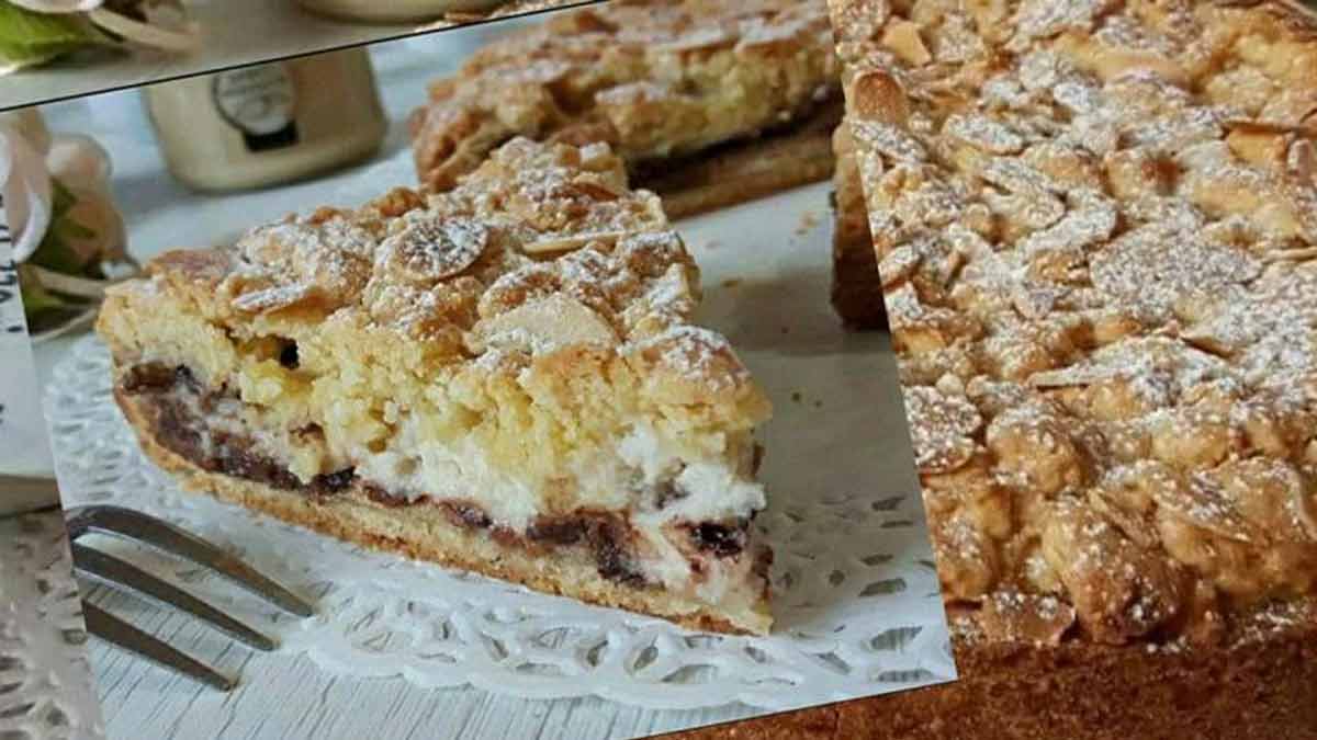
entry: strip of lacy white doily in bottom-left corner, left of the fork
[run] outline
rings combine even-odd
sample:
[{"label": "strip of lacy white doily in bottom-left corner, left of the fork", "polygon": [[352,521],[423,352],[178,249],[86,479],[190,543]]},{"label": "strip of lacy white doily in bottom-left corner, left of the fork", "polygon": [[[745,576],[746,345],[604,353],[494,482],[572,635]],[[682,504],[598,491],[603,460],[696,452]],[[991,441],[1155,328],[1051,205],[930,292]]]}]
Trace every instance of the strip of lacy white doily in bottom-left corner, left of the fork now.
[{"label": "strip of lacy white doily in bottom-left corner, left of the fork", "polygon": [[0,737],[104,737],[59,512],[0,521]]}]

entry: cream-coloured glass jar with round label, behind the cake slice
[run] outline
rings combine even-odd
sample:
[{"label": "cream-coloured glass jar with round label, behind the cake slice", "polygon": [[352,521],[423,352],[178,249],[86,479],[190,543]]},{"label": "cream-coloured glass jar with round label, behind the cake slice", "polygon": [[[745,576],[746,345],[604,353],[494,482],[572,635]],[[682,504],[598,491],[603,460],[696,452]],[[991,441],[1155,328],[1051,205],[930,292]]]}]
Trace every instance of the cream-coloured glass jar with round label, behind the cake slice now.
[{"label": "cream-coloured glass jar with round label, behind the cake slice", "polygon": [[205,191],[265,187],[365,159],[389,129],[360,47],[161,83],[145,97],[170,172]]}]

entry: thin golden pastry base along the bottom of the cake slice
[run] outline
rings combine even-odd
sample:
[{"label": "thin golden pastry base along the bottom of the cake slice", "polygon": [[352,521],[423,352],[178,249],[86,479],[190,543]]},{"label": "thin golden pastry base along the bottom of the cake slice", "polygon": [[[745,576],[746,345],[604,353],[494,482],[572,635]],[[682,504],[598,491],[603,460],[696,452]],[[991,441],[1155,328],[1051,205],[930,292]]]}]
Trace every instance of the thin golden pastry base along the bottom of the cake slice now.
[{"label": "thin golden pastry base along the bottom of the cake slice", "polygon": [[574,548],[532,554],[504,546],[482,532],[453,525],[437,507],[391,508],[356,494],[316,500],[295,491],[209,473],[159,444],[150,415],[133,396],[116,388],[115,400],[137,433],[142,452],[174,474],[186,490],[267,514],[290,524],[377,550],[427,560],[450,568],[522,583],[593,604],[661,616],[689,629],[766,633],[768,614],[726,614],[709,604],[658,589],[630,589],[599,575]]}]

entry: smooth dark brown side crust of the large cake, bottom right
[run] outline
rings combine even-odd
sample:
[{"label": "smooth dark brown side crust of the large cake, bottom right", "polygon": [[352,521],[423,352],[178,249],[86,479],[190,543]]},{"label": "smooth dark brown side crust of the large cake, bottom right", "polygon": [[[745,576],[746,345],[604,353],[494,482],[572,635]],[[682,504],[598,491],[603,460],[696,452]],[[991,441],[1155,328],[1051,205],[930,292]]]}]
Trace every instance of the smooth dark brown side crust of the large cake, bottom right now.
[{"label": "smooth dark brown side crust of the large cake, bottom right", "polygon": [[1317,624],[1226,650],[959,645],[960,679],[673,740],[1313,740]]}]

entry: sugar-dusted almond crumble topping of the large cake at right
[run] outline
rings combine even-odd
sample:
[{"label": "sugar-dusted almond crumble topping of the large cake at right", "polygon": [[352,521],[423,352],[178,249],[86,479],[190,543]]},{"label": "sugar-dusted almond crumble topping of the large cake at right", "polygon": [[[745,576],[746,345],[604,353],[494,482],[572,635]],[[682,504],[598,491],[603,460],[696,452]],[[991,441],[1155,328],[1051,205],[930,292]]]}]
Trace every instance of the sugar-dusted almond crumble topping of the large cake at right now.
[{"label": "sugar-dusted almond crumble topping of the large cake at right", "polygon": [[1260,8],[1010,8],[940,7],[984,42],[942,68],[852,50],[907,93],[851,125],[946,593],[1183,649],[1317,591],[1313,80]]}]

